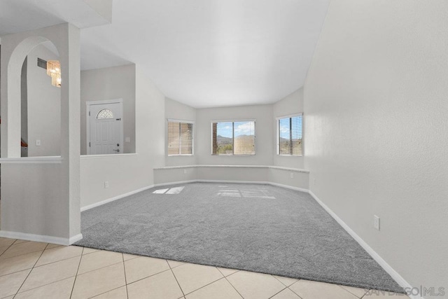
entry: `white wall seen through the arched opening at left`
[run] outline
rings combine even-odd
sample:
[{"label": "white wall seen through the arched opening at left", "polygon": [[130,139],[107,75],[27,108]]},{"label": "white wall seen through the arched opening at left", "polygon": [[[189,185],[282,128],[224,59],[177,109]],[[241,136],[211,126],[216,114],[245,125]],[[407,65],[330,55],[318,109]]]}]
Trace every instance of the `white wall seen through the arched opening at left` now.
[{"label": "white wall seen through the arched opening at left", "polygon": [[[61,155],[61,89],[51,85],[47,70],[37,66],[37,58],[59,60],[43,45],[27,56],[28,157]],[[36,146],[36,140],[41,140],[41,146]]]}]

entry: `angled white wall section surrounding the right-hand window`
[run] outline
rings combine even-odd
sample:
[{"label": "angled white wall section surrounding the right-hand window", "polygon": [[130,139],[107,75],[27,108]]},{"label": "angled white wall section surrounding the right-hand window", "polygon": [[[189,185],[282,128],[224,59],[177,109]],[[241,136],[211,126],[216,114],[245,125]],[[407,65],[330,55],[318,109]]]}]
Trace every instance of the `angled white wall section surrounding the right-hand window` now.
[{"label": "angled white wall section surrounding the right-hand window", "polygon": [[[292,94],[288,95],[284,99],[281,99],[279,102],[276,102],[272,105],[272,113],[274,118],[278,118],[281,116],[288,116],[295,113],[303,113],[303,88],[296,90]],[[293,167],[293,168],[303,168],[303,156],[297,155],[277,155],[277,122],[274,120],[273,129],[274,132],[273,138],[273,146],[274,146],[274,165],[281,167]],[[303,132],[303,130],[302,130]],[[303,137],[302,137],[303,140]],[[303,142],[302,142],[303,144]],[[303,144],[304,152],[306,151],[305,145]]]}]

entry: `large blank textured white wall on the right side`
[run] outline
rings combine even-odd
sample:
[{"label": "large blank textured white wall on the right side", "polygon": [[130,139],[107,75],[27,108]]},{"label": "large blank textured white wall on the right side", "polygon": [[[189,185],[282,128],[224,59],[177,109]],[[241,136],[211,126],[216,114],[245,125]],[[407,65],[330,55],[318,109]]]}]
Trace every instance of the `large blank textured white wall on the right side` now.
[{"label": "large blank textured white wall on the right side", "polygon": [[412,286],[445,291],[447,11],[333,0],[304,87],[311,191]]}]

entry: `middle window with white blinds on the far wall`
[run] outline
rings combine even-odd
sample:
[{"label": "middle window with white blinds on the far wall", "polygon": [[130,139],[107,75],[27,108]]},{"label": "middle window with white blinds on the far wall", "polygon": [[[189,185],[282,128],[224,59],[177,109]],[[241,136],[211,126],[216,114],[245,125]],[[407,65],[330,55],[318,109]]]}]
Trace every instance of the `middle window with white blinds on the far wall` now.
[{"label": "middle window with white blinds on the far wall", "polygon": [[255,121],[211,123],[212,155],[255,155]]}]

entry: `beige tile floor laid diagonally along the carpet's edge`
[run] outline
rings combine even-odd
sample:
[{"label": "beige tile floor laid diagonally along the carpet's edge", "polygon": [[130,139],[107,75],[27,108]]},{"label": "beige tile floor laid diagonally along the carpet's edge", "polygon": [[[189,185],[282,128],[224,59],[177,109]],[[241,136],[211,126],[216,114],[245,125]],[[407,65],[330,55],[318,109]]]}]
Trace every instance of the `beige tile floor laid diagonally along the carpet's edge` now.
[{"label": "beige tile floor laid diagonally along the carpet's edge", "polygon": [[78,246],[0,238],[0,298],[368,299],[398,298],[397,295]]}]

